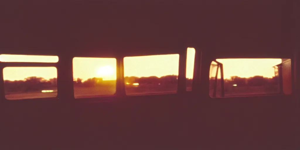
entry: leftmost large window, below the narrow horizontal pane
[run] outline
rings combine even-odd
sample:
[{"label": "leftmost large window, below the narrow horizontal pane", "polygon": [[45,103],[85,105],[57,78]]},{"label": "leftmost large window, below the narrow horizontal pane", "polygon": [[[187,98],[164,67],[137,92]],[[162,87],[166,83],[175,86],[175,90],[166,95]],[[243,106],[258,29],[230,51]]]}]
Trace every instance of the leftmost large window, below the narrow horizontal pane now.
[{"label": "leftmost large window, below the narrow horizontal pane", "polygon": [[7,100],[55,98],[55,67],[5,67],[4,93]]}]

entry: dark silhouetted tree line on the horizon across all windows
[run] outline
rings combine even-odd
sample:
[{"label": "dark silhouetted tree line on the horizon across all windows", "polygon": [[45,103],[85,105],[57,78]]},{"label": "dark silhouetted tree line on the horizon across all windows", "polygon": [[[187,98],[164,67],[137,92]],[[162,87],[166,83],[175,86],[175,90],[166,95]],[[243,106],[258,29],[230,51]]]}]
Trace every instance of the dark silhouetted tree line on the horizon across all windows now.
[{"label": "dark silhouetted tree line on the horizon across all windows", "polygon": [[[162,77],[149,76],[149,77],[136,77],[136,76],[126,76],[125,83],[132,85],[133,83],[139,83],[141,86],[147,85],[176,85],[177,75],[167,75]],[[213,80],[214,78],[211,78]],[[219,79],[218,79],[219,80]],[[115,86],[116,81],[104,81],[102,78],[89,78],[83,81],[77,78],[73,81],[75,87],[96,87],[96,86]],[[220,83],[220,82],[219,82]],[[238,86],[263,86],[263,85],[277,85],[278,77],[265,78],[263,76],[253,76],[250,78],[241,78],[238,76],[232,76],[231,79],[225,79],[225,84]],[[187,79],[187,86],[192,85],[192,79]],[[28,91],[41,91],[48,89],[57,88],[57,79],[52,78],[46,80],[42,77],[31,76],[24,80],[5,80],[4,81],[5,92],[28,92]]]}]

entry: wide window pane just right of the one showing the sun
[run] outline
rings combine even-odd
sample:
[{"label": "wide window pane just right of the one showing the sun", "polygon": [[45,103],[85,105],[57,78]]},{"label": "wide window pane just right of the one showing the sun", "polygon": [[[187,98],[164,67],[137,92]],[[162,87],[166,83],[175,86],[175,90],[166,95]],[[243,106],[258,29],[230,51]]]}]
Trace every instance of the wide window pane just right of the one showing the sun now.
[{"label": "wide window pane just right of the one showing the sun", "polygon": [[178,54],[125,57],[126,95],[176,93],[178,71]]}]

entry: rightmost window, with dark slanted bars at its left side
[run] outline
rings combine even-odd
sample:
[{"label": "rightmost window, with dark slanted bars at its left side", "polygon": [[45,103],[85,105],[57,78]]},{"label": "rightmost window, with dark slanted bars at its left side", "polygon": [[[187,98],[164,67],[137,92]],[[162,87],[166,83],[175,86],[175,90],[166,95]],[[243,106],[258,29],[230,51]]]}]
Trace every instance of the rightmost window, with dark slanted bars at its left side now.
[{"label": "rightmost window, with dark slanted bars at its left side", "polygon": [[217,59],[216,62],[223,64],[224,84],[221,84],[221,67],[213,61],[209,76],[211,97],[214,90],[215,97],[220,97],[222,86],[225,97],[291,94],[290,59]]}]

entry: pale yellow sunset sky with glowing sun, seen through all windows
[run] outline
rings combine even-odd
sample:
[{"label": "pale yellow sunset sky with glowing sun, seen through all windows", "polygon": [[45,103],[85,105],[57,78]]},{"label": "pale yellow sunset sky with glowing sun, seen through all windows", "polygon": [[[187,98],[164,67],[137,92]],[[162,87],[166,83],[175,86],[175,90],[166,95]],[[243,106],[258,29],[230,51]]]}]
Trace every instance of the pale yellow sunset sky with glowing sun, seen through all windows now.
[{"label": "pale yellow sunset sky with glowing sun, seen through all windows", "polygon": [[[193,77],[195,50],[188,48],[187,78]],[[0,61],[10,62],[57,62],[57,56],[0,55]],[[250,77],[262,75],[274,76],[272,66],[281,63],[281,59],[217,59],[223,63],[224,78],[230,76]],[[178,75],[179,55],[153,55],[124,58],[125,76],[165,76]],[[29,76],[45,79],[57,77],[55,67],[6,67],[3,70],[4,80],[22,80]],[[74,58],[73,77],[86,80],[102,77],[104,80],[116,79],[115,58]]]}]

